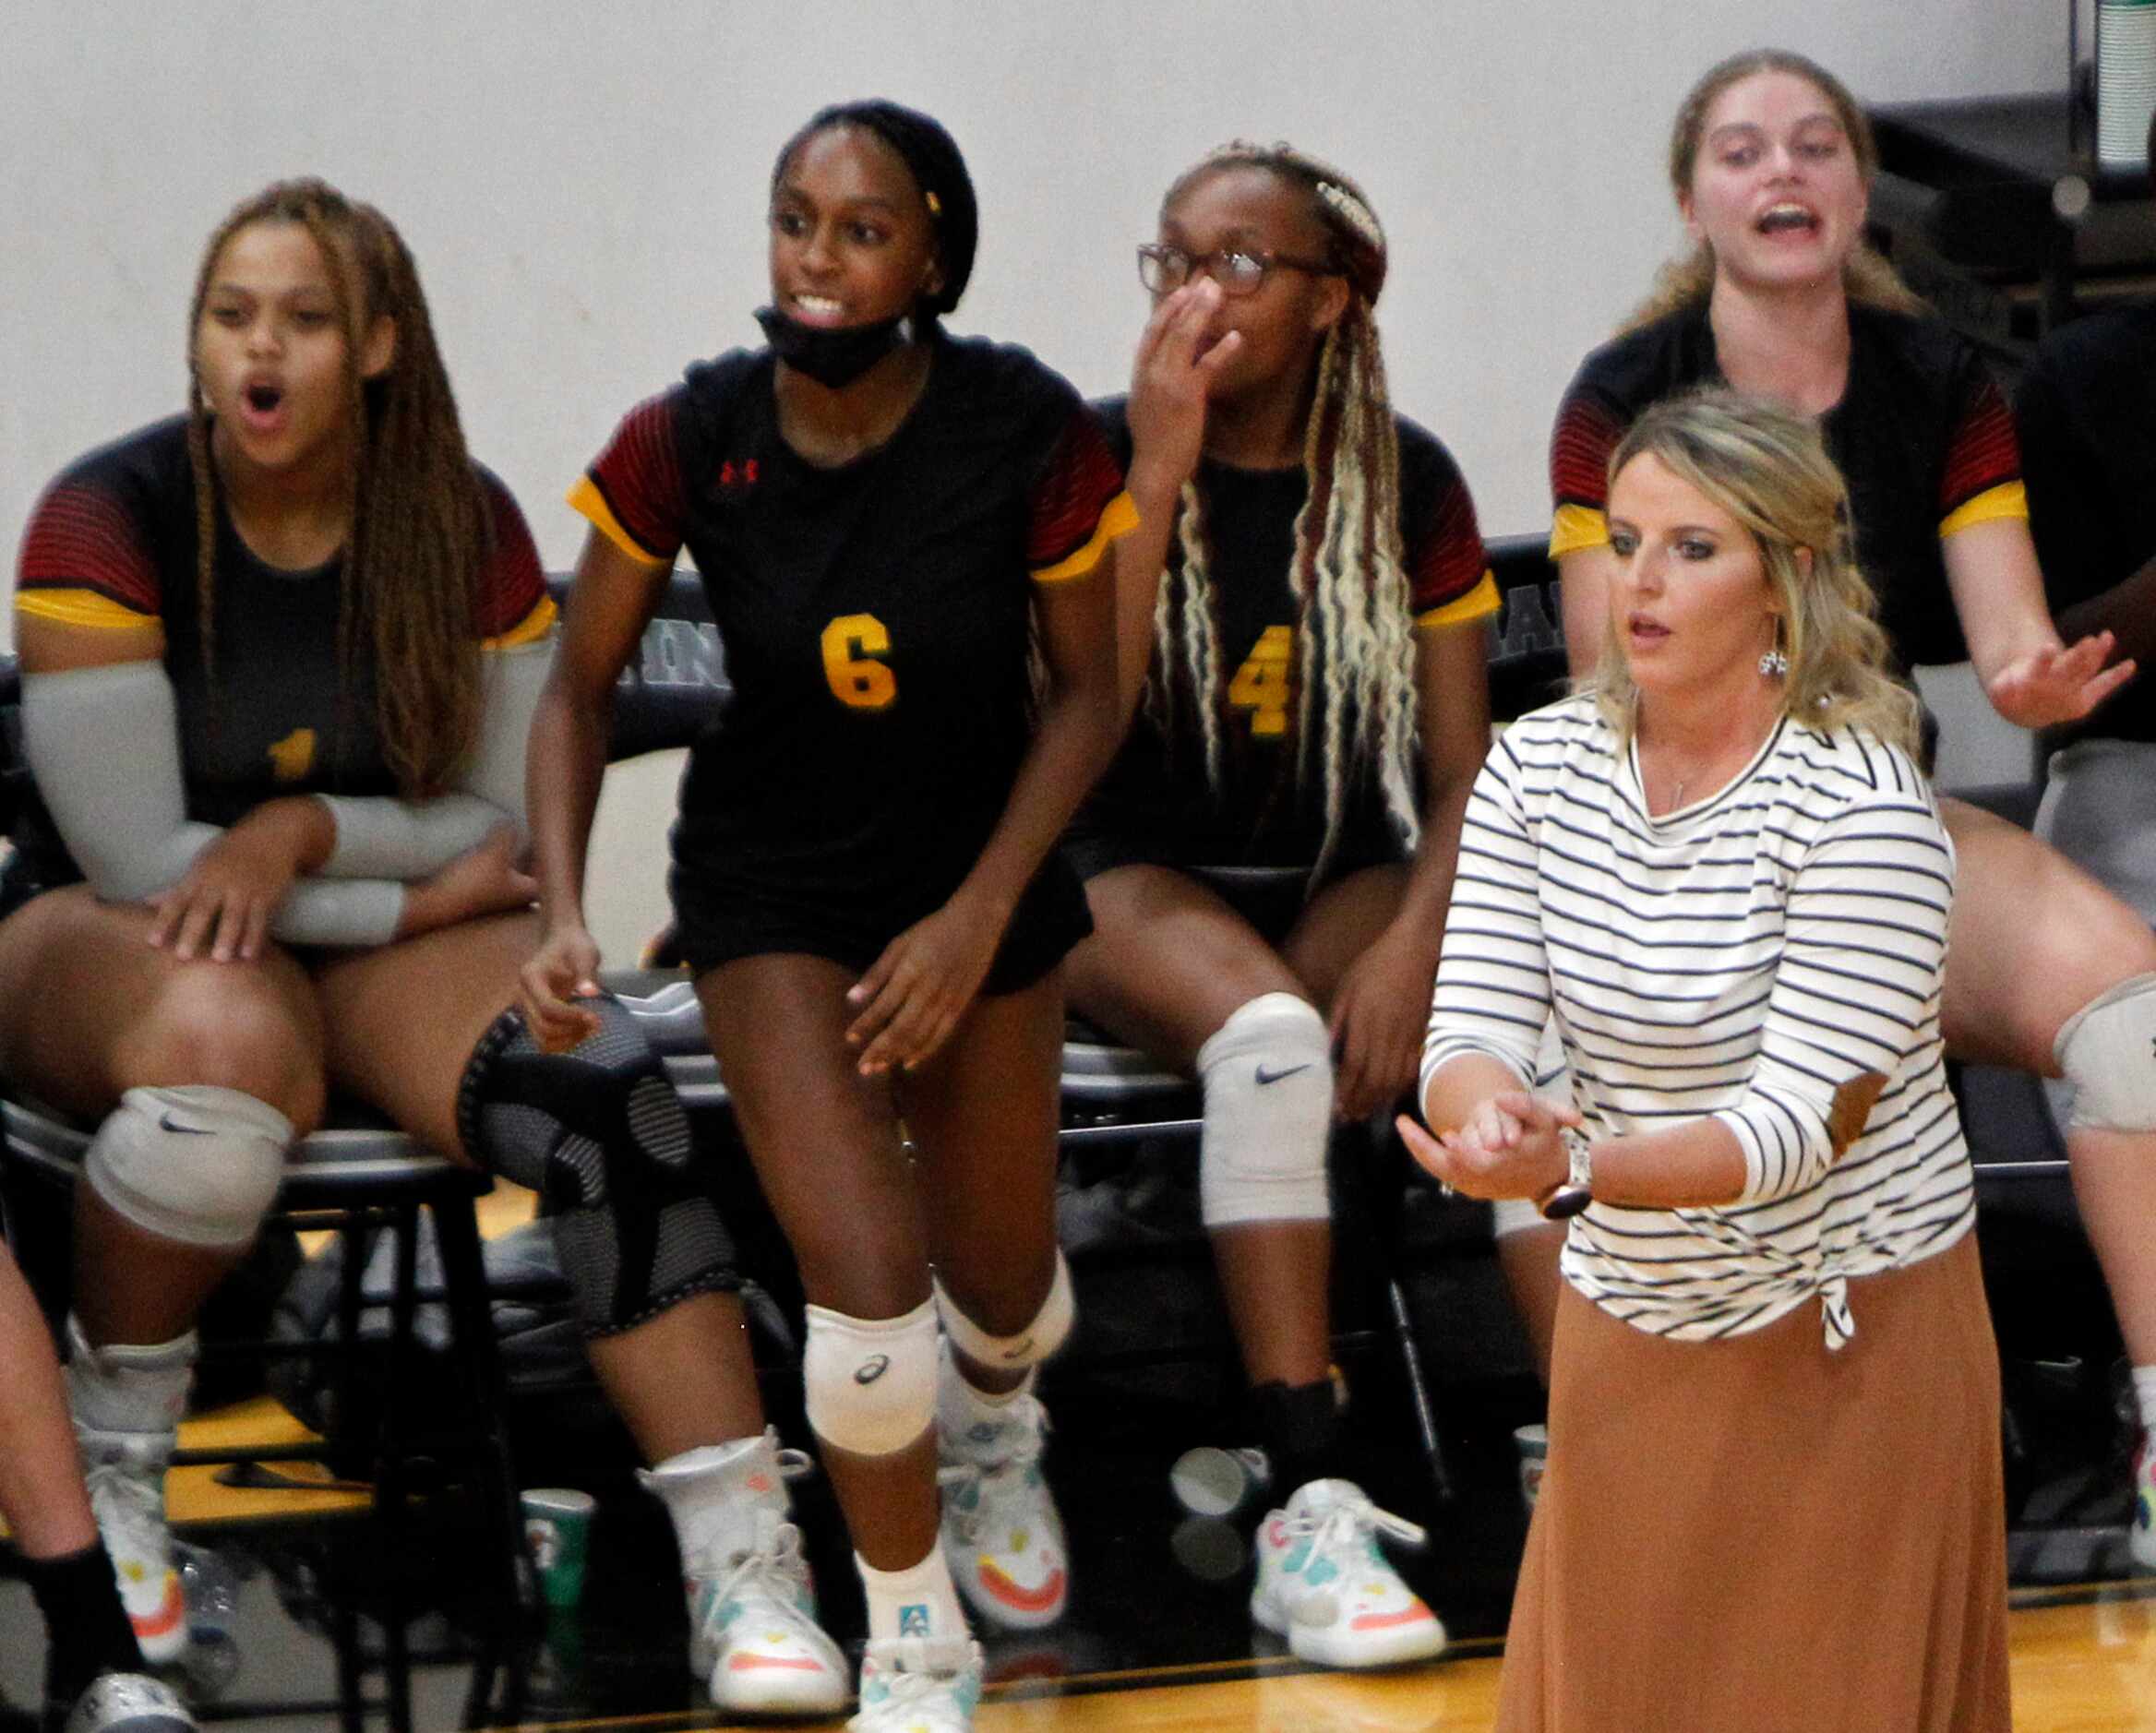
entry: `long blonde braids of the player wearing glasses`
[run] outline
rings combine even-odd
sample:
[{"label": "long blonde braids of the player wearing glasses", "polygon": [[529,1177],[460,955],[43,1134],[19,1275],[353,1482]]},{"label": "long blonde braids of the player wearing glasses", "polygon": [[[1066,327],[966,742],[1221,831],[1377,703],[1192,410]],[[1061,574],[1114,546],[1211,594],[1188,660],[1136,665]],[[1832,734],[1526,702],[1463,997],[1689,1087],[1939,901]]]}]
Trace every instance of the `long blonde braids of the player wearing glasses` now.
[{"label": "long blonde braids of the player wearing glasses", "polygon": [[[1386,813],[1412,849],[1421,836],[1414,804],[1414,629],[1406,556],[1399,541],[1399,440],[1384,379],[1373,308],[1384,289],[1384,228],[1363,188],[1291,144],[1235,140],[1184,170],[1160,211],[1207,175],[1263,168],[1309,200],[1326,235],[1330,265],[1348,280],[1348,310],[1326,332],[1311,382],[1302,435],[1309,494],[1296,517],[1287,582],[1296,597],[1296,666],[1324,670],[1322,694],[1298,681],[1296,757],[1300,780],[1315,757],[1324,776],[1326,834],[1313,882],[1339,843],[1348,791],[1376,774]],[[1205,748],[1205,778],[1220,787],[1220,634],[1205,539],[1205,502],[1194,481],[1177,513],[1181,567],[1160,584],[1153,608],[1153,675],[1145,703],[1171,731],[1188,705]]]}]

